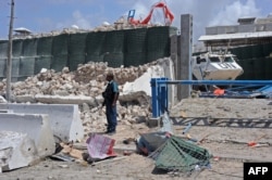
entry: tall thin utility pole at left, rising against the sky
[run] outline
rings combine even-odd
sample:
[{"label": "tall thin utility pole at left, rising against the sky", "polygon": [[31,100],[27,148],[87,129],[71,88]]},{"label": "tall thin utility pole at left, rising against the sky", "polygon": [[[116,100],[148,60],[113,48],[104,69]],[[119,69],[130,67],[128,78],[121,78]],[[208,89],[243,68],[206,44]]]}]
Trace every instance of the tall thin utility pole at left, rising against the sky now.
[{"label": "tall thin utility pole at left, rising against the sky", "polygon": [[8,62],[7,62],[7,101],[11,101],[11,69],[12,69],[12,31],[13,31],[13,15],[14,15],[14,0],[11,0],[11,16],[8,44]]}]

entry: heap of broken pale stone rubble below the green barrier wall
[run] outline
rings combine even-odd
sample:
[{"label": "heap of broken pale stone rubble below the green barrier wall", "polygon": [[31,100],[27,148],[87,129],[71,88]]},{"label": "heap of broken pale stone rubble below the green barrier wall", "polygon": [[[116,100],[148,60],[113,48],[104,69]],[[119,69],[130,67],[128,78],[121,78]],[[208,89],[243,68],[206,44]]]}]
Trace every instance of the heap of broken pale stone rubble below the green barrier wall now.
[{"label": "heap of broken pale stone rubble below the green barrier wall", "polygon": [[[62,72],[41,69],[39,74],[28,77],[25,81],[11,85],[12,102],[45,103],[45,104],[78,104],[85,137],[89,132],[104,131],[107,123],[101,92],[106,88],[104,75],[113,72],[120,85],[120,101],[118,104],[119,124],[131,125],[145,121],[151,115],[150,111],[150,78],[163,77],[163,68],[158,65],[169,59],[137,67],[108,67],[107,63],[78,65],[75,72],[64,67]],[[147,75],[148,74],[148,75]],[[143,82],[140,77],[145,77]],[[134,81],[139,79],[136,86]],[[5,79],[0,82],[0,92],[5,93]]]}]

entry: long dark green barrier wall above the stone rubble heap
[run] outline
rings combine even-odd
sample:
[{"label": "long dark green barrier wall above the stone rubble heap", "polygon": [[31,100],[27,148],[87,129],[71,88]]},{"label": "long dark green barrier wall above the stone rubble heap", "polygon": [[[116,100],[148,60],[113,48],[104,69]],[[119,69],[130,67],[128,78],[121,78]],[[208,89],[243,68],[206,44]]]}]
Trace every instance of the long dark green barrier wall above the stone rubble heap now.
[{"label": "long dark green barrier wall above the stone rubble heap", "polygon": [[[61,34],[51,37],[15,39],[12,46],[13,80],[50,68],[57,72],[78,64],[108,62],[111,67],[137,66],[170,56],[170,36],[175,27]],[[8,41],[0,41],[1,65],[5,66]],[[5,76],[4,68],[0,75]],[[0,77],[2,78],[2,77]]]}]

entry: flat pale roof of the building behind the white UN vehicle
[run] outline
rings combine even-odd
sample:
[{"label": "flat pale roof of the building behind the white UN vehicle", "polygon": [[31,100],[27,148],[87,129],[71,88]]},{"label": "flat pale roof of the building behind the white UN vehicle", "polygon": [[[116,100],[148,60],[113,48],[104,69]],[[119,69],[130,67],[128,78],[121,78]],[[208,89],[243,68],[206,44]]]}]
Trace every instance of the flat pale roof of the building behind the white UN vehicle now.
[{"label": "flat pale roof of the building behind the white UN vehicle", "polygon": [[198,40],[206,47],[239,47],[272,42],[272,15],[265,18],[242,17],[238,25],[206,27]]}]

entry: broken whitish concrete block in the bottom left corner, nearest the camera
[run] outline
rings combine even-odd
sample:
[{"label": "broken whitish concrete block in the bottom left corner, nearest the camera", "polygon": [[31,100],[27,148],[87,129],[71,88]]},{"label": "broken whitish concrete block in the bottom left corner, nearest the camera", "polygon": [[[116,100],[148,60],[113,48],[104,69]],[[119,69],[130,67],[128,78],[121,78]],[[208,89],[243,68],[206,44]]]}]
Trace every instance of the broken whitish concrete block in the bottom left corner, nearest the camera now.
[{"label": "broken whitish concrete block in the bottom left corner, nearest the camera", "polygon": [[35,141],[26,133],[0,131],[0,169],[17,169],[39,159]]}]

